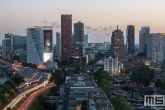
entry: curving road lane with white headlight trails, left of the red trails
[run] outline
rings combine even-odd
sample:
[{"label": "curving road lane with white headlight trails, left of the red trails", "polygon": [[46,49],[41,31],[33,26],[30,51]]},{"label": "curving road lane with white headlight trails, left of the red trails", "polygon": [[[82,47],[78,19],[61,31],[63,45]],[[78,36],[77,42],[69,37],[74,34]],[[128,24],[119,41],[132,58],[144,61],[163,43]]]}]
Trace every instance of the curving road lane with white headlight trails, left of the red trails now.
[{"label": "curving road lane with white headlight trails, left of the red trails", "polygon": [[20,95],[18,95],[18,96],[17,96],[10,104],[8,104],[3,110],[7,110],[8,107],[13,108],[13,107],[23,98],[24,94],[28,94],[28,93],[30,93],[30,92],[32,92],[32,91],[34,91],[34,90],[37,90],[37,89],[40,88],[40,87],[44,87],[44,85],[47,85],[48,82],[49,82],[50,77],[51,77],[51,74],[48,74],[47,79],[46,79],[42,84],[40,84],[40,85],[38,85],[38,86],[36,86],[36,87],[34,87],[34,88],[31,88],[31,89],[29,89],[29,90],[27,90],[27,91],[21,93]]}]

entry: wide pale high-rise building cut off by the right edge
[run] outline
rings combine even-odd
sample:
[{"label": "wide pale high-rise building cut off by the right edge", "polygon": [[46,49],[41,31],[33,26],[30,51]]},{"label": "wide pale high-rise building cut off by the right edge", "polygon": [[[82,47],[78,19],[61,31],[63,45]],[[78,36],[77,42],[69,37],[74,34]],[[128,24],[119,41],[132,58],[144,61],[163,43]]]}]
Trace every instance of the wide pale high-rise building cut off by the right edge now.
[{"label": "wide pale high-rise building cut off by the right edge", "polygon": [[155,33],[148,35],[147,58],[155,62],[165,59],[165,34]]}]

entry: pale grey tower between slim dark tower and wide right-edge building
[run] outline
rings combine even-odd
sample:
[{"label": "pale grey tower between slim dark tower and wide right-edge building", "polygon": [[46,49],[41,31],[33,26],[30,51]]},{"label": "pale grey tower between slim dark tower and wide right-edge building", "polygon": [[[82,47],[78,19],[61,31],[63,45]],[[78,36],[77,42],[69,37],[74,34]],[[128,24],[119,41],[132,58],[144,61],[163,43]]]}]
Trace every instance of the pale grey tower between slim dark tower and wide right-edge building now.
[{"label": "pale grey tower between slim dark tower and wide right-edge building", "polygon": [[139,31],[139,50],[147,54],[147,36],[150,34],[150,27],[141,27]]}]

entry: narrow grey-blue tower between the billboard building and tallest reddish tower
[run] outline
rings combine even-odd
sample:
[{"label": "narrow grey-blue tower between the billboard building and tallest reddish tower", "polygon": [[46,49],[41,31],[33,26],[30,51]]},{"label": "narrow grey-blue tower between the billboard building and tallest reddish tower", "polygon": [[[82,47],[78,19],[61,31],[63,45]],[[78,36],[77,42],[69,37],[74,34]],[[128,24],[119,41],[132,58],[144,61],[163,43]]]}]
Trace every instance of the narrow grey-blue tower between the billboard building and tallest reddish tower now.
[{"label": "narrow grey-blue tower between the billboard building and tallest reddish tower", "polygon": [[56,55],[61,56],[61,34],[56,32]]}]

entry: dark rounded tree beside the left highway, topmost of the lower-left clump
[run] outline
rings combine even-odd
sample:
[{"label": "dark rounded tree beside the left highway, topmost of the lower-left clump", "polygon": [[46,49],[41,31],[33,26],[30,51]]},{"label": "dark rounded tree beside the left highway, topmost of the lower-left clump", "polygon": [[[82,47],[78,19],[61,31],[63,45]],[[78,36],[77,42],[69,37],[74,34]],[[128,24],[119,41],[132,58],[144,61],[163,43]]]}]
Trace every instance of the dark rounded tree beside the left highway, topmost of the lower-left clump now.
[{"label": "dark rounded tree beside the left highway, topmost of the lower-left clump", "polygon": [[24,77],[21,76],[20,74],[15,74],[11,77],[11,80],[19,86],[21,83],[25,83]]}]

